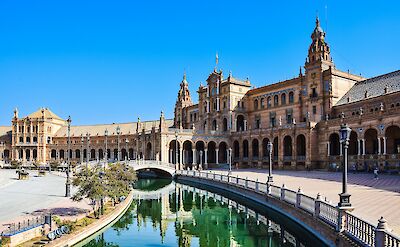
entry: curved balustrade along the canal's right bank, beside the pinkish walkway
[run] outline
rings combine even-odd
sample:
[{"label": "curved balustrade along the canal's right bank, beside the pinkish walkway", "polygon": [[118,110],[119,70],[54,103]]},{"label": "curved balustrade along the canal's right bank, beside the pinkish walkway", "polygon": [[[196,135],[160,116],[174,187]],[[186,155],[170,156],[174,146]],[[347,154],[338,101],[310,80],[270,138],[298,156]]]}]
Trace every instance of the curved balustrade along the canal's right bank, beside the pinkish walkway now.
[{"label": "curved balustrade along the canal's right bank, beside the pinkish walkway", "polygon": [[[316,198],[313,198],[304,195],[301,189],[296,192],[287,189],[285,185],[279,187],[258,180],[234,177],[229,174],[215,174],[209,171],[179,170],[176,174],[233,185],[289,203],[300,210],[312,214],[313,217],[324,221],[336,231],[344,233],[362,246],[400,247],[400,237],[390,232],[386,225],[386,220],[383,218],[379,219],[378,225],[375,226],[327,201],[322,201],[319,194]],[[264,190],[260,188],[267,189]]]}]

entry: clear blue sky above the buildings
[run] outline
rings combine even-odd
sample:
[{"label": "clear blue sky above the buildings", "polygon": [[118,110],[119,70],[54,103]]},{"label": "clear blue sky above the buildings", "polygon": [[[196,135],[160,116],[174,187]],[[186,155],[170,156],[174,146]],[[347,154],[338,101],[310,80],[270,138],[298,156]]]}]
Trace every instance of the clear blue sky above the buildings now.
[{"label": "clear blue sky above the buildings", "polygon": [[298,75],[319,15],[339,69],[400,69],[400,1],[0,1],[0,125],[49,107],[74,125],[173,116],[184,70],[262,86]]}]

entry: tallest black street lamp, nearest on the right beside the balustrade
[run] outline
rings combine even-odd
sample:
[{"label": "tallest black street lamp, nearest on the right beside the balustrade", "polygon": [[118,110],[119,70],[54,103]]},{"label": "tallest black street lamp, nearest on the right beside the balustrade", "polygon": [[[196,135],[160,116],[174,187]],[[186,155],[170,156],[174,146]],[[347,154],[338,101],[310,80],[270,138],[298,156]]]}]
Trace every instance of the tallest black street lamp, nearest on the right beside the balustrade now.
[{"label": "tallest black street lamp, nearest on the right beside the balustrade", "polygon": [[350,132],[351,129],[347,126],[346,123],[340,126],[340,142],[343,147],[343,171],[342,171],[342,193],[339,194],[340,201],[339,207],[351,207],[350,203],[350,194],[347,193],[347,149],[349,148],[349,140],[350,140]]}]

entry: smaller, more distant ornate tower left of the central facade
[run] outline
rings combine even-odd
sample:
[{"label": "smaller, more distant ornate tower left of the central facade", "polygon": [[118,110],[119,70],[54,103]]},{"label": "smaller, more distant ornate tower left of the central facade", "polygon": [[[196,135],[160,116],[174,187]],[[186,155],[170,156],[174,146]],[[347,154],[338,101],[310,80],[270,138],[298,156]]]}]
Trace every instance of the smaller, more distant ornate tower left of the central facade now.
[{"label": "smaller, more distant ornate tower left of the central facade", "polygon": [[176,128],[185,127],[183,126],[185,123],[185,112],[183,109],[191,105],[193,105],[193,103],[190,97],[189,83],[186,80],[186,73],[184,73],[178,92],[178,98],[175,103],[174,126]]}]

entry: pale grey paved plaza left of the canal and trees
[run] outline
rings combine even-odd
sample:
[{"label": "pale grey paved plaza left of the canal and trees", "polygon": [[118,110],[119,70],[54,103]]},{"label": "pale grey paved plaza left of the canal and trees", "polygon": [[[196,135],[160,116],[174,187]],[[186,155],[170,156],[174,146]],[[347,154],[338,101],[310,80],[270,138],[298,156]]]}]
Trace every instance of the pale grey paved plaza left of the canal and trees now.
[{"label": "pale grey paved plaza left of the canal and trees", "polygon": [[87,201],[73,202],[65,197],[64,174],[38,177],[37,171],[29,172],[29,180],[17,180],[15,170],[0,170],[0,232],[11,222],[34,215],[52,212],[72,217],[90,209]]}]

